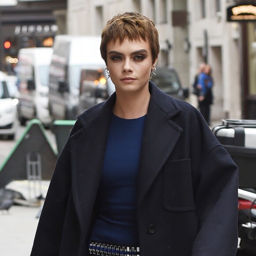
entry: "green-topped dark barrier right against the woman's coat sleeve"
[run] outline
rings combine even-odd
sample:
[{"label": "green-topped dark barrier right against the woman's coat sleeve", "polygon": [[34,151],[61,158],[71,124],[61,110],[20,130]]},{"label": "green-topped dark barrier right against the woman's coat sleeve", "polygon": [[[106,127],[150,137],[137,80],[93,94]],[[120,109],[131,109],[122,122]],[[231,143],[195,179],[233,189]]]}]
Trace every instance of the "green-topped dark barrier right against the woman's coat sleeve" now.
[{"label": "green-topped dark barrier right against the woman's coat sleeve", "polygon": [[75,120],[55,120],[53,122],[53,132],[55,134],[59,154],[62,151],[74,124]]}]

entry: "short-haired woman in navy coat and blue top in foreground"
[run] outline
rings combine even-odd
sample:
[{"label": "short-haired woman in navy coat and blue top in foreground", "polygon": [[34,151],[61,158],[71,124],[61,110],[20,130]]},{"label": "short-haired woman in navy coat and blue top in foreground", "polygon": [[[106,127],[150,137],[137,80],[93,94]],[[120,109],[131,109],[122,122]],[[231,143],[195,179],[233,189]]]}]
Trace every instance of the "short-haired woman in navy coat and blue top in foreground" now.
[{"label": "short-haired woman in navy coat and blue top in foreground", "polygon": [[198,110],[149,81],[154,23],[115,15],[100,50],[116,92],[78,117],[31,256],[234,256],[237,166]]}]

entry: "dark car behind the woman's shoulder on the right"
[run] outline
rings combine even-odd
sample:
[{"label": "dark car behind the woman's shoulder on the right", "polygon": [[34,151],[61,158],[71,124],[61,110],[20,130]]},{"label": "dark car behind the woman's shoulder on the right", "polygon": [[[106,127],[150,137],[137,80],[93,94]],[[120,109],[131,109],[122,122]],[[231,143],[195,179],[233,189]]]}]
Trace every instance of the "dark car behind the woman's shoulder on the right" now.
[{"label": "dark car behind the woman's shoulder on the right", "polygon": [[151,75],[151,81],[154,82],[160,90],[173,98],[180,100],[188,98],[189,90],[188,88],[182,87],[179,76],[174,68],[158,67],[156,75]]}]

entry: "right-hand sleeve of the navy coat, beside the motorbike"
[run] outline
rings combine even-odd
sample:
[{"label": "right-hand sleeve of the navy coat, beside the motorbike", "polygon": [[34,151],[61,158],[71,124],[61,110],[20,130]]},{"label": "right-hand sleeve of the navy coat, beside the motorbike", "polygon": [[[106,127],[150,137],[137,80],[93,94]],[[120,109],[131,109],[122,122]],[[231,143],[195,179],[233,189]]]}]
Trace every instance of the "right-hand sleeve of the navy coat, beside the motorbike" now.
[{"label": "right-hand sleeve of the navy coat, beside the motorbike", "polygon": [[192,256],[235,256],[238,168],[219,144],[200,166],[195,192],[199,232]]}]

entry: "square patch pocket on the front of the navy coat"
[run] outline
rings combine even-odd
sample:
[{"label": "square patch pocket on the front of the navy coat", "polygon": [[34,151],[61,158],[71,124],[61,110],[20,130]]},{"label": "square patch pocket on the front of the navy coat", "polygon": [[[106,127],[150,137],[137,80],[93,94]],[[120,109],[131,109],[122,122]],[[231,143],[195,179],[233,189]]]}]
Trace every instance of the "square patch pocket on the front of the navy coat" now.
[{"label": "square patch pocket on the front of the navy coat", "polygon": [[163,207],[166,210],[195,210],[190,159],[166,162],[163,179]]}]

